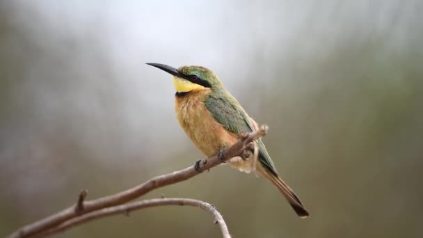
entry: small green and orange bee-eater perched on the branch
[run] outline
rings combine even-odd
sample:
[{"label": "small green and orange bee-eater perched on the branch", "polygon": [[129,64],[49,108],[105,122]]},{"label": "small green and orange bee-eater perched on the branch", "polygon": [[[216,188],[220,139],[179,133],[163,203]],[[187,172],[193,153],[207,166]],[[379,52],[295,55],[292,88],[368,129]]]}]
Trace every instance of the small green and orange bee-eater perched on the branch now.
[{"label": "small green and orange bee-eater perched on the branch", "polygon": [[[176,88],[177,120],[191,141],[207,157],[218,154],[239,140],[239,132],[253,132],[257,123],[248,116],[237,100],[225,89],[212,70],[202,66],[173,68],[160,63],[147,63],[173,75]],[[261,139],[257,139],[258,161],[255,171],[270,180],[287,199],[296,214],[309,216],[294,191],[279,177],[278,171]],[[249,173],[253,159],[232,158],[230,166]]]}]

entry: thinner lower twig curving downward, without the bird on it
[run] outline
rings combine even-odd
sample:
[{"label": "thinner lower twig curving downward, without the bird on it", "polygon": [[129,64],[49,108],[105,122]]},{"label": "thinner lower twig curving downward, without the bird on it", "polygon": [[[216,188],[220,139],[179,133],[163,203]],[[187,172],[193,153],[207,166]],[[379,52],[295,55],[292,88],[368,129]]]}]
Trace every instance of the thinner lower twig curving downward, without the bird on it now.
[{"label": "thinner lower twig curving downward, without the bird on it", "polygon": [[92,221],[94,219],[99,219],[105,216],[112,216],[115,214],[128,214],[131,211],[144,209],[147,207],[157,207],[157,206],[165,206],[165,205],[179,205],[179,206],[191,206],[191,207],[199,207],[204,209],[207,212],[212,212],[214,215],[214,223],[218,224],[221,228],[223,238],[230,238],[228,226],[226,225],[225,221],[223,220],[222,215],[218,212],[218,210],[210,205],[209,203],[203,202],[201,200],[195,200],[190,198],[156,198],[150,200],[142,200],[134,203],[127,203],[124,205],[118,205],[115,207],[106,207],[103,209],[99,209],[94,212],[90,212],[88,214],[84,214],[82,216],[74,217],[73,219],[67,220],[46,232],[42,232],[40,236],[52,235],[63,230],[67,230],[69,228],[74,227],[75,225],[79,225],[81,223],[86,223],[88,221]]}]

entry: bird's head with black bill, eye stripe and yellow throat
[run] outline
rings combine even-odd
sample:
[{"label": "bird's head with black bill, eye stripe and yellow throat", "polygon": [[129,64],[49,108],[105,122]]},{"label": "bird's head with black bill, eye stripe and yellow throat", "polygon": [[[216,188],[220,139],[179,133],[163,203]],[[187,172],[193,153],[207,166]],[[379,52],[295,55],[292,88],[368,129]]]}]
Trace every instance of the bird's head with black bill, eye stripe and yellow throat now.
[{"label": "bird's head with black bill, eye stripe and yellow throat", "polygon": [[202,66],[182,66],[178,69],[161,63],[147,63],[173,75],[173,84],[177,93],[186,93],[191,90],[210,90],[223,88],[221,79],[212,70]]}]

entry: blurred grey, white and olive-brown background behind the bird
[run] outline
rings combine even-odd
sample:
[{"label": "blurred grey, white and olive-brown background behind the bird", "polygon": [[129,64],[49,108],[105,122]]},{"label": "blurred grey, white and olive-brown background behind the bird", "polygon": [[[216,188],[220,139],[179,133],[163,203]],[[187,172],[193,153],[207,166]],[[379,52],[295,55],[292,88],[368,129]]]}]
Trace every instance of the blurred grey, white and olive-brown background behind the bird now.
[{"label": "blurred grey, white and olive-brown background behind the bird", "polygon": [[[257,122],[298,219],[228,166],[148,193],[233,237],[423,237],[423,1],[1,1],[0,237],[190,166],[170,75],[205,65]],[[157,207],[57,237],[220,237]]]}]

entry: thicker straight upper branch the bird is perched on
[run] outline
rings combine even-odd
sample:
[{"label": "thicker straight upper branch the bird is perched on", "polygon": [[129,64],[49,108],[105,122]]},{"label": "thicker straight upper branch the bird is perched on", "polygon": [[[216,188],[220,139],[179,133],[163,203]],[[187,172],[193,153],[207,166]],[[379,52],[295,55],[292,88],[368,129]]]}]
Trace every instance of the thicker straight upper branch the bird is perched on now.
[{"label": "thicker straight upper branch the bird is perched on", "polygon": [[[241,156],[244,150],[248,147],[248,144],[255,141],[257,138],[264,136],[267,133],[267,129],[268,127],[266,125],[262,125],[256,132],[240,133],[239,141],[226,149],[221,158],[218,155],[215,155],[207,159],[201,159],[198,163],[198,168],[201,171],[209,170],[210,168],[213,168],[232,157]],[[188,180],[191,177],[198,175],[199,173],[200,172],[195,169],[195,166],[190,166],[173,173],[153,177],[152,179],[147,180],[147,182],[139,184],[138,186],[131,189],[127,189],[113,195],[104,196],[102,198],[97,198],[95,200],[85,201],[85,196],[80,194],[76,204],[63,209],[61,212],[47,216],[45,219],[35,221],[29,225],[25,225],[23,228],[19,228],[10,234],[9,237],[33,237],[35,235],[39,235],[42,232],[45,232],[46,230],[54,228],[55,226],[63,223],[64,221],[73,219],[74,217],[88,214],[89,212],[106,207],[113,207],[127,203],[128,201],[143,196],[145,193],[148,193],[154,189]]]}]

